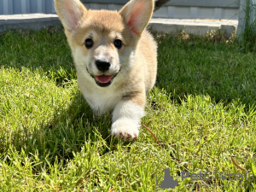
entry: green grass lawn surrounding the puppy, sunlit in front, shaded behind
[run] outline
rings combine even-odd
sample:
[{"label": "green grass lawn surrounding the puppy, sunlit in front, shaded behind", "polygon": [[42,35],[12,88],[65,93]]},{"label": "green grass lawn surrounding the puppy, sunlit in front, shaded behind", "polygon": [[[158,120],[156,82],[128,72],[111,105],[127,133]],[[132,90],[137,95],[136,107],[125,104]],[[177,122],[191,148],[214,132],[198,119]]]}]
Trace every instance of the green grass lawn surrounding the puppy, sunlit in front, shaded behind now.
[{"label": "green grass lawn surrounding the puppy, sunlit in front, shaded behind", "polygon": [[[133,143],[109,136],[110,115],[95,117],[81,96],[61,27],[1,32],[0,190],[156,191],[166,168],[178,186],[161,191],[256,190],[256,54],[214,39],[156,39],[142,123],[160,145],[143,127]],[[233,176],[199,177],[207,172]]]}]

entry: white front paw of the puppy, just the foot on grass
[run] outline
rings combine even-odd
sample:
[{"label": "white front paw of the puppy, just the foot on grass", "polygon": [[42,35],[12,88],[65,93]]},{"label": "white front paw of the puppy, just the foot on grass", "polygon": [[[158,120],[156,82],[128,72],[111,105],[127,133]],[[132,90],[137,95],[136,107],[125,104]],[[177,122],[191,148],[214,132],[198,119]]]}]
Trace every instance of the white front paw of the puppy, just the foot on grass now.
[{"label": "white front paw of the puppy, just the foot on grass", "polygon": [[129,119],[118,119],[111,126],[113,137],[118,137],[126,141],[132,141],[138,137],[139,124],[132,122]]}]

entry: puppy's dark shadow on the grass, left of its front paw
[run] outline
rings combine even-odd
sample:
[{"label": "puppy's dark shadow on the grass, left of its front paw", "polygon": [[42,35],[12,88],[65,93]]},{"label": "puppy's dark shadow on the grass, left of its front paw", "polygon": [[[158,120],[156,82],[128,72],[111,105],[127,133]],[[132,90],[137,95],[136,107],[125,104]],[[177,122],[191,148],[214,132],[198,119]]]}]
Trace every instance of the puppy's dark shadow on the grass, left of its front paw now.
[{"label": "puppy's dark shadow on the grass, left of its front paw", "polygon": [[56,158],[58,162],[66,164],[86,143],[90,144],[92,152],[96,150],[99,155],[115,150],[119,141],[111,137],[110,127],[110,115],[94,115],[78,90],[68,108],[55,110],[53,118],[42,125],[29,130],[26,127],[18,128],[8,143],[2,143],[6,147],[0,148],[4,148],[2,154],[8,154],[11,146],[18,152],[24,150],[28,156],[37,156],[42,160],[37,168],[40,170],[40,167],[53,165]]}]

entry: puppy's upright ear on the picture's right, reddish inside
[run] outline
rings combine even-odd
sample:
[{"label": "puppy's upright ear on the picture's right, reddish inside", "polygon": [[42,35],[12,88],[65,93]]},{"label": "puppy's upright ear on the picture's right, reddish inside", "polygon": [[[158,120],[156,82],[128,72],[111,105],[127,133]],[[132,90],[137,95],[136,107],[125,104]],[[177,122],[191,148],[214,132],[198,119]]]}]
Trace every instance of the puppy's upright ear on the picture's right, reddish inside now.
[{"label": "puppy's upright ear on the picture's right, reddish inside", "polygon": [[148,25],[154,9],[154,0],[131,0],[119,11],[131,32],[140,36]]}]

